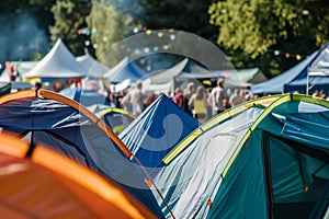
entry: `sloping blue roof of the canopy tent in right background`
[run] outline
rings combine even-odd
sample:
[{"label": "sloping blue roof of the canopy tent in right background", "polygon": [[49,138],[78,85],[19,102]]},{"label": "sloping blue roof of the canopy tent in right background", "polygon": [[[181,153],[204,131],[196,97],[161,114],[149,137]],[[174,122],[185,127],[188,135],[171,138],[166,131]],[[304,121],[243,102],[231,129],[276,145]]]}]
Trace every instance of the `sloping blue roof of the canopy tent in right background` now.
[{"label": "sloping blue roof of the canopy tent in right background", "polygon": [[[281,74],[261,83],[251,85],[253,94],[280,94],[284,93],[284,84],[294,80],[306,78],[307,66],[318,55],[319,51],[313,53],[306,59],[294,66],[293,68],[282,72]],[[305,83],[306,84],[306,83]]]}]

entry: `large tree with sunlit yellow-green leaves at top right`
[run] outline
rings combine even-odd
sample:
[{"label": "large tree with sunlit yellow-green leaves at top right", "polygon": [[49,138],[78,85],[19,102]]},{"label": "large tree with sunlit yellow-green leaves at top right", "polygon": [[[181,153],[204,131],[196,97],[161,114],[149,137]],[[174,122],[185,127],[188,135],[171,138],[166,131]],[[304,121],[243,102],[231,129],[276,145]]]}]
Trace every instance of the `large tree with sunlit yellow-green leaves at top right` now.
[{"label": "large tree with sunlit yellow-green leaves at top right", "polygon": [[[328,41],[329,9],[321,0],[218,1],[208,13],[218,27],[217,44],[235,66],[258,64],[265,73],[295,65],[291,53],[306,56]],[[275,50],[284,56],[275,57]]]}]

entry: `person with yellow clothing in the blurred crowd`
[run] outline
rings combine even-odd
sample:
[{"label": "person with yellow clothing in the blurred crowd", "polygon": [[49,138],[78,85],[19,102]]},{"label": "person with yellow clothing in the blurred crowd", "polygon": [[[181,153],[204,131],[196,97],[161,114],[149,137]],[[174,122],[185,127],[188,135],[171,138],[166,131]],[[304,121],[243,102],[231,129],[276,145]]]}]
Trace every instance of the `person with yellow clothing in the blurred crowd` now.
[{"label": "person with yellow clothing in the blurred crowd", "polygon": [[195,93],[190,99],[189,105],[193,108],[193,117],[203,124],[207,119],[207,100],[203,85],[196,88]]}]

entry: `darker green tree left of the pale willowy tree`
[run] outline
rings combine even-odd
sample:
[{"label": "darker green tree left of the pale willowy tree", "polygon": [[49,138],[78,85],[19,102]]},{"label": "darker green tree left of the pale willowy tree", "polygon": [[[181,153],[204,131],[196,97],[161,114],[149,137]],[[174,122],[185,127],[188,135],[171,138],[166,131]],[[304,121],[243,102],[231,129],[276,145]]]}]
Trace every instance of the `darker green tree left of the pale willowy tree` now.
[{"label": "darker green tree left of the pale willowy tree", "polygon": [[84,36],[78,30],[87,27],[90,10],[90,0],[57,0],[52,7],[55,24],[49,26],[50,39],[61,38],[75,55],[83,54]]}]

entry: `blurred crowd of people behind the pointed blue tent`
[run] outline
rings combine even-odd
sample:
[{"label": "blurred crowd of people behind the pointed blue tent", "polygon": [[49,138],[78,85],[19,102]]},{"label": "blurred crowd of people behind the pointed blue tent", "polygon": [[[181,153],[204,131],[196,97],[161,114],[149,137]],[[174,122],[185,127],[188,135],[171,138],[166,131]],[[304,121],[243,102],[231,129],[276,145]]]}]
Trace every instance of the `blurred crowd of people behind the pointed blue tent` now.
[{"label": "blurred crowd of people behind the pointed blue tent", "polygon": [[[115,93],[109,87],[106,99],[112,106],[139,115],[159,95],[154,92],[145,92],[143,83],[137,81],[134,87],[120,93]],[[226,89],[223,78],[217,80],[214,88],[189,82],[185,88],[175,88],[174,92],[166,93],[166,95],[200,123],[204,123],[232,106],[258,97],[246,89]]]}]

